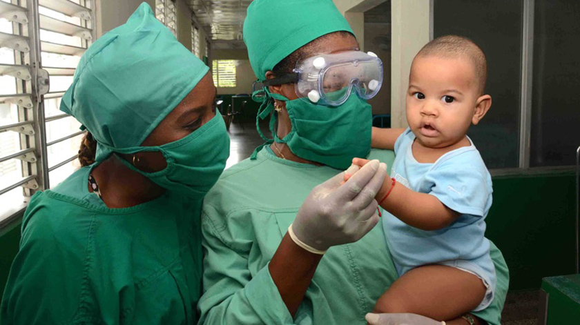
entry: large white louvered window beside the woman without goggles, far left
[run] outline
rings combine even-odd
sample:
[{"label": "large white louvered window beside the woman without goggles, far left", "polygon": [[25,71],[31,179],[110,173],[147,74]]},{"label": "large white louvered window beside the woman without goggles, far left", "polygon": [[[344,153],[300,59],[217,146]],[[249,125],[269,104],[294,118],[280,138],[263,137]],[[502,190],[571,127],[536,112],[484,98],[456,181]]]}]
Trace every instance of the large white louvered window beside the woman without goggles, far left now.
[{"label": "large white louvered window beside the woman without goggles, far left", "polygon": [[78,164],[84,132],[59,110],[93,40],[93,0],[0,0],[0,226]]}]

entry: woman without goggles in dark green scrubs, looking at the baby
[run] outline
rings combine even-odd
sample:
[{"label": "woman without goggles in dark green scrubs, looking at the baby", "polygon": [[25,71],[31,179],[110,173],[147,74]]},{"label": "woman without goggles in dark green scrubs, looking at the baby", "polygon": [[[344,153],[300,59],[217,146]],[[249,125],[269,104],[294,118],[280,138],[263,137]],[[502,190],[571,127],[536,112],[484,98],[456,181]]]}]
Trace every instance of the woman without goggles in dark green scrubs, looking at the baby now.
[{"label": "woman without goggles in dark green scrubs, looking at the baby", "polygon": [[145,3],[86,51],[61,110],[96,162],[32,197],[1,324],[197,322],[200,209],[229,155],[208,70]]}]

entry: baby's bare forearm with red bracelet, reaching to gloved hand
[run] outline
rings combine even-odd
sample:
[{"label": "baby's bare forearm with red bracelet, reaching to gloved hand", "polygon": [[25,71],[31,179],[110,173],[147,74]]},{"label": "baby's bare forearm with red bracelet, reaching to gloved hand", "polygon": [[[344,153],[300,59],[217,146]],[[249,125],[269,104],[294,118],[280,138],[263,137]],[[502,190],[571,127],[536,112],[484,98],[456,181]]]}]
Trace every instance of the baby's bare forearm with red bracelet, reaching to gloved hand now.
[{"label": "baby's bare forearm with red bracelet, reaching to gloved hand", "polygon": [[[355,158],[352,162],[357,166],[365,166],[368,160]],[[418,193],[401,184],[392,186],[393,181],[387,175],[376,200],[385,210],[409,226],[421,230],[438,230],[449,226],[460,216],[434,195]]]}]

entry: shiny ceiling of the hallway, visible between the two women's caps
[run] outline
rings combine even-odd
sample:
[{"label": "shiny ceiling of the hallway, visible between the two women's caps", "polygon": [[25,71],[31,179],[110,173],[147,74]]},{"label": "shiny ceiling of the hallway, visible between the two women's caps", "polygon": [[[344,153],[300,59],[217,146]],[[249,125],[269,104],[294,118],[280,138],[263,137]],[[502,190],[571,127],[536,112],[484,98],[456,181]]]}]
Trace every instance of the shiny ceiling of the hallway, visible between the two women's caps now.
[{"label": "shiny ceiling of the hallway, visible between the two women's caps", "polygon": [[243,46],[242,24],[252,0],[188,0],[198,23],[218,43]]}]

